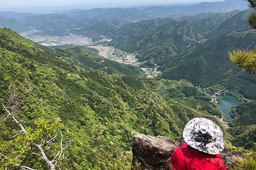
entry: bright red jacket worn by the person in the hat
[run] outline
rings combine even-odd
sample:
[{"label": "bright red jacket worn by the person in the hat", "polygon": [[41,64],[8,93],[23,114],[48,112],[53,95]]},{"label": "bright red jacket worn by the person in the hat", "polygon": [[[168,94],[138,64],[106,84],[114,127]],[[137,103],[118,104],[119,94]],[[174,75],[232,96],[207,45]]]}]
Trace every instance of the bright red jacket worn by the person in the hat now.
[{"label": "bright red jacket worn by the person in the hat", "polygon": [[174,170],[226,170],[219,154],[199,153],[187,143],[175,149],[171,163]]}]

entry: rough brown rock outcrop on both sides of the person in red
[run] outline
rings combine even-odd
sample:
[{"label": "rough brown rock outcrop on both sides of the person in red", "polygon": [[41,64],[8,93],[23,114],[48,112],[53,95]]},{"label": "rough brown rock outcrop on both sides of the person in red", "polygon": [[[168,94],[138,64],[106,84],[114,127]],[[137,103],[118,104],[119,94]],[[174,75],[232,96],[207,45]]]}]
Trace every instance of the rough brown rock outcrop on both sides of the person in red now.
[{"label": "rough brown rock outcrop on both sides of the person in red", "polygon": [[[132,170],[172,170],[171,155],[184,143],[184,141],[178,143],[164,136],[135,135],[132,148]],[[237,162],[237,158],[243,158],[239,153],[227,148],[224,148],[220,155],[227,169]]]}]

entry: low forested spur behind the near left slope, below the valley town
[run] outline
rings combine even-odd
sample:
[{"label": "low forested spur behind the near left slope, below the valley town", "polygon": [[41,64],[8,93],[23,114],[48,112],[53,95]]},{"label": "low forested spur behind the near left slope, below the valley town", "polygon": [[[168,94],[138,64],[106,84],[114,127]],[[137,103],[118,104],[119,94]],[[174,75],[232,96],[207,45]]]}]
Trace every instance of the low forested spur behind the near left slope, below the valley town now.
[{"label": "low forested spur behind the near left slope, below the valley town", "polygon": [[76,64],[81,68],[97,69],[109,74],[117,73],[122,75],[142,75],[143,71],[135,66],[118,63],[108,60],[105,57],[96,55],[98,50],[78,45],[65,45],[55,47],[39,47],[54,56],[62,58],[70,63]]}]

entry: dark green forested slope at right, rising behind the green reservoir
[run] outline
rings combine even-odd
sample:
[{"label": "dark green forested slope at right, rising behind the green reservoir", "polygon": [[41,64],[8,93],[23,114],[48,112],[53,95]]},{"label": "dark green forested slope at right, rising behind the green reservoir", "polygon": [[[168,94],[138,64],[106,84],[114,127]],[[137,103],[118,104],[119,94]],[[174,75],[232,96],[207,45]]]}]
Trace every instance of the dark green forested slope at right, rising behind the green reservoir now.
[{"label": "dark green forested slope at right, rising behind the green reservoir", "polygon": [[255,98],[256,77],[247,74],[229,61],[228,51],[249,49],[255,45],[255,31],[229,33],[204,43],[198,48],[176,56],[159,69],[162,78],[187,79],[202,87],[215,85],[216,89],[240,92]]}]

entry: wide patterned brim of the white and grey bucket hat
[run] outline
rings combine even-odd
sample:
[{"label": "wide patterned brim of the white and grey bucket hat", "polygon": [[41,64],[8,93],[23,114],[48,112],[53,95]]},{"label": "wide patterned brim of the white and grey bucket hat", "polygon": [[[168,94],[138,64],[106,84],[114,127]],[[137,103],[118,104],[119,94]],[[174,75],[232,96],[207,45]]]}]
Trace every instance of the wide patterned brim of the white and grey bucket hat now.
[{"label": "wide patterned brim of the white and grey bucket hat", "polygon": [[[217,134],[217,138],[215,142],[213,143],[203,143],[203,142],[197,142],[193,139],[192,130],[194,127],[194,124],[197,121],[208,121],[209,124],[214,125],[215,132]],[[223,140],[223,134],[219,126],[214,123],[212,120],[206,119],[206,118],[194,118],[191,119],[185,126],[183,130],[183,138],[185,142],[191,146],[194,149],[197,149],[198,151],[209,153],[209,154],[218,154],[224,149],[224,140]]]}]

